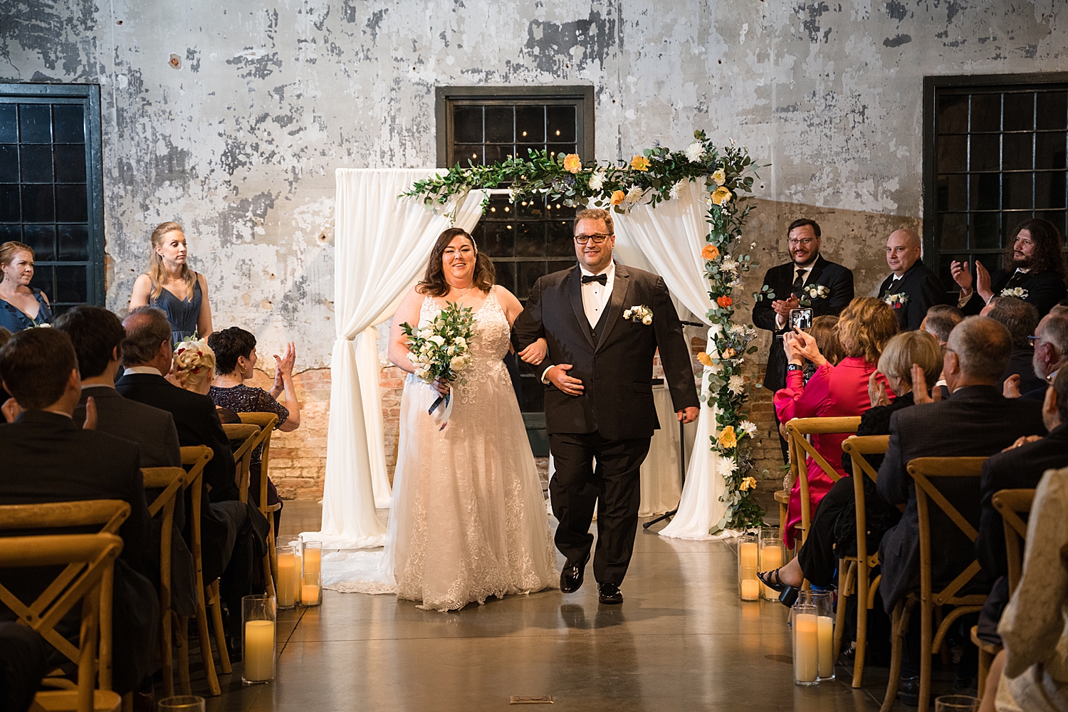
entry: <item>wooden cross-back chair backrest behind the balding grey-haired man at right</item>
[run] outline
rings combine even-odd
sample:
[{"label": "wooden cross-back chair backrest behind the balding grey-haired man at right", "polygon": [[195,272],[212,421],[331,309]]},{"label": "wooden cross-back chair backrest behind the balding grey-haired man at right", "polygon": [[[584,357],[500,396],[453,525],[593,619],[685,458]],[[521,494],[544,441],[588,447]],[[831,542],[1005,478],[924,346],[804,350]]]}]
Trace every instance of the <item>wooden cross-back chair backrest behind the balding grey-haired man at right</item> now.
[{"label": "wooden cross-back chair backrest behind the balding grey-haired man at right", "polygon": [[[909,461],[908,472],[915,481],[916,487],[916,512],[920,520],[920,594],[923,600],[929,600],[934,605],[983,605],[986,601],[985,595],[957,596],[968,583],[980,571],[979,563],[974,557],[974,547],[970,553],[972,557],[969,564],[957,576],[939,591],[932,590],[933,573],[931,571],[931,512],[930,502],[941,510],[957,528],[974,542],[979,533],[975,525],[960,513],[960,510],[952,504],[946,496],[930,480],[931,477],[946,479],[972,478],[975,480],[974,504],[978,510],[979,478],[983,475],[983,463],[985,457],[921,457]],[[945,545],[946,542],[941,541]]]}]

